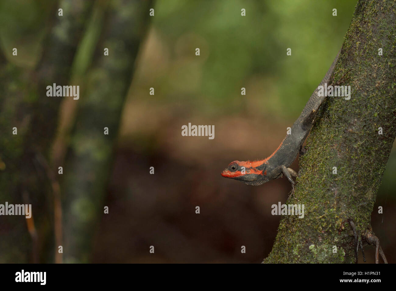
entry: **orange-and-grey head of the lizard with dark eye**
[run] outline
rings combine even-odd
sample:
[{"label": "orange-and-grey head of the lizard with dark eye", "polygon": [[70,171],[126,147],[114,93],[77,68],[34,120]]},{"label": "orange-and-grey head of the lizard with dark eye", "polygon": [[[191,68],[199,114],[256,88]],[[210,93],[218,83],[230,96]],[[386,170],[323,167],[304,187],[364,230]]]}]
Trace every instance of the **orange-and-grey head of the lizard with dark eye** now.
[{"label": "orange-and-grey head of the lizard with dark eye", "polygon": [[233,161],[221,172],[221,176],[255,185],[256,183],[252,183],[253,181],[256,181],[258,178],[263,178],[263,175],[267,175],[267,171],[264,170],[263,164],[263,160],[253,162]]}]

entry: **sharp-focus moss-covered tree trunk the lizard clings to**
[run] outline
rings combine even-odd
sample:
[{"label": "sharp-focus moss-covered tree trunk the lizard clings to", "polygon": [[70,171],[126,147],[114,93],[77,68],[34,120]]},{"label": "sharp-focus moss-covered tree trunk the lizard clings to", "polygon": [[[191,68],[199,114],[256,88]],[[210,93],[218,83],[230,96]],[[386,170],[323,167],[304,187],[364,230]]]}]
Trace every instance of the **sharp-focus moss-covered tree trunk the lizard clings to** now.
[{"label": "sharp-focus moss-covered tree trunk the lizard clings to", "polygon": [[332,78],[353,69],[342,84],[351,98],[322,106],[300,159],[299,201],[287,201],[305,204],[305,217],[282,217],[263,263],[354,263],[351,223],[358,242],[374,243],[371,212],[396,135],[395,23],[395,1],[358,1]]}]

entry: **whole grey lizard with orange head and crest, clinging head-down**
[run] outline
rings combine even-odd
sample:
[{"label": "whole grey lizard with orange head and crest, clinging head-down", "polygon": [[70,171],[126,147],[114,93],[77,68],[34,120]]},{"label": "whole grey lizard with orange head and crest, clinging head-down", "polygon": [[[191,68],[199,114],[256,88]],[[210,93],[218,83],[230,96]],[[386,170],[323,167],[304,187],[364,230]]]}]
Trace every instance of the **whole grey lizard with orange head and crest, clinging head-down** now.
[{"label": "whole grey lizard with orange head and crest, clinging head-down", "polygon": [[[319,86],[324,86],[325,83],[330,81],[340,52],[341,49]],[[303,155],[307,151],[305,147],[303,148],[303,143],[314,125],[319,107],[326,98],[325,94],[320,96],[321,94],[318,92],[319,87],[312,93],[300,116],[293,123],[291,134],[286,135],[269,157],[255,161],[233,161],[228,164],[221,176],[255,186],[285,176],[291,184],[291,195],[294,197],[295,181],[292,177],[297,178],[298,174],[289,166],[295,161],[299,153]]]}]

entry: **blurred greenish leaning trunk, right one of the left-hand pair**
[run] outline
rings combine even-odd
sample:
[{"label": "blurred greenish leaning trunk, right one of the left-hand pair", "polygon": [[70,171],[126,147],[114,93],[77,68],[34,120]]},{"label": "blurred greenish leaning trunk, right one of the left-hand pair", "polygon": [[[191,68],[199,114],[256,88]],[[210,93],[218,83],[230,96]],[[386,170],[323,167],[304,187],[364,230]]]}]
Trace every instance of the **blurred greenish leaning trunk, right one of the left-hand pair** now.
[{"label": "blurred greenish leaning trunk, right one of the left-hand pair", "polygon": [[[65,100],[63,109],[73,111],[75,120],[69,125],[65,125],[68,121],[60,122],[65,128],[60,128],[52,156],[54,168],[64,168],[61,193],[66,263],[89,263],[91,259],[95,230],[105,207],[113,144],[151,5],[151,1],[121,1],[106,8],[109,14],[92,65],[72,76],[83,85],[84,97],[78,100],[78,108],[70,107],[75,106],[75,100]],[[95,12],[102,14],[94,9],[93,15]],[[93,17],[89,26],[97,29],[101,22],[100,17]],[[91,50],[89,44],[86,48]],[[105,48],[109,49],[108,56],[104,55]],[[77,55],[80,63],[78,59]],[[67,151],[59,150],[62,147]]]}]

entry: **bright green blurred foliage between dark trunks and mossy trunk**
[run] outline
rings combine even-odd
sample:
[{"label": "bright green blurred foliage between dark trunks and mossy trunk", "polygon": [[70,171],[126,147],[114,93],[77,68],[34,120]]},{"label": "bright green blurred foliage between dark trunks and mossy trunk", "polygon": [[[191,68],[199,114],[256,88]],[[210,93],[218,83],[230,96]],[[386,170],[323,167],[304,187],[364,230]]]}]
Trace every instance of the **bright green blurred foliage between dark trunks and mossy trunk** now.
[{"label": "bright green blurred foliage between dark trunks and mossy trunk", "polygon": [[[294,120],[341,47],[355,4],[159,0],[153,27],[178,67],[154,79],[156,98],[191,102],[217,115],[243,110],[244,98],[254,93],[262,114]],[[244,98],[241,87],[247,88]]]}]

